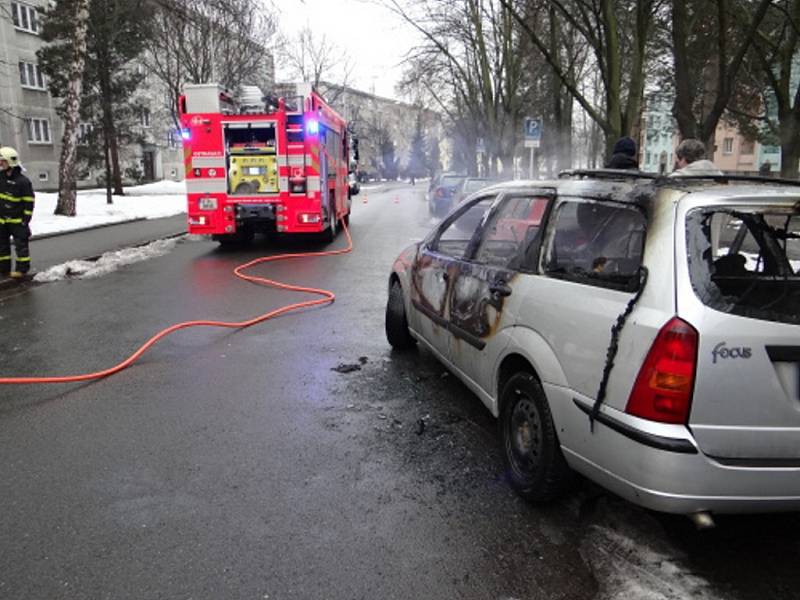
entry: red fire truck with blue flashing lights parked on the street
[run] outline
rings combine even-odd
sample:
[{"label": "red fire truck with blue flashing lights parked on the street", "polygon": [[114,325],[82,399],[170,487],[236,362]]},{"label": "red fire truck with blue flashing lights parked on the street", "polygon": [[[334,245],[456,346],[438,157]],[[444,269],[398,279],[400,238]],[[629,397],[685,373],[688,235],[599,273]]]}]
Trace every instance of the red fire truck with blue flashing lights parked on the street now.
[{"label": "red fire truck with blue flashing lights parked on the street", "polygon": [[310,86],[244,105],[216,84],[180,98],[189,232],[222,244],[255,233],[336,236],[349,222],[347,124]]}]

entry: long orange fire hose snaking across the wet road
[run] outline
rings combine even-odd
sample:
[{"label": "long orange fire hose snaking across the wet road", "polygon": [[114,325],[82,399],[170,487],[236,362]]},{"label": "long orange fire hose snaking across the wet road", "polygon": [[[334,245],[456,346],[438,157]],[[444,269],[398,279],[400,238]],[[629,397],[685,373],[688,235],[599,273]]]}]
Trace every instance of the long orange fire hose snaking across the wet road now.
[{"label": "long orange fire hose snaking across the wet road", "polygon": [[289,290],[292,292],[305,292],[308,294],[316,294],[318,296],[322,296],[322,298],[317,298],[315,300],[306,300],[304,302],[295,302],[293,304],[287,304],[286,306],[276,308],[275,310],[271,310],[268,313],[264,313],[263,315],[259,315],[257,317],[253,317],[252,319],[248,319],[247,321],[237,321],[237,322],[184,321],[183,323],[176,323],[174,325],[167,327],[166,329],[162,329],[161,331],[159,331],[157,334],[155,334],[153,337],[147,340],[144,344],[142,344],[139,347],[139,349],[136,350],[136,352],[131,354],[128,358],[126,358],[119,364],[114,365],[113,367],[110,367],[108,369],[104,369],[102,371],[95,371],[94,373],[84,373],[82,375],[63,375],[54,377],[0,377],[0,384],[8,385],[8,384],[25,384],[25,383],[74,383],[78,381],[91,381],[93,379],[102,379],[103,377],[108,377],[109,375],[118,373],[123,369],[127,369],[134,362],[136,362],[139,359],[139,357],[142,356],[142,354],[147,352],[147,350],[151,346],[153,346],[156,342],[168,336],[169,334],[178,331],[179,329],[187,329],[189,327],[226,327],[229,329],[245,329],[247,327],[252,327],[253,325],[257,325],[258,323],[263,323],[264,321],[273,319],[279,315],[299,310],[301,308],[318,306],[320,304],[330,304],[336,299],[336,295],[331,291],[323,290],[320,288],[290,285],[288,283],[281,283],[280,281],[275,281],[274,279],[267,279],[266,277],[257,277],[256,275],[245,275],[243,271],[261,263],[275,262],[278,260],[289,260],[293,258],[304,258],[310,256],[335,256],[337,254],[347,254],[348,252],[351,252],[353,250],[353,239],[350,237],[350,231],[348,230],[347,225],[343,221],[341,222],[341,224],[342,228],[344,229],[344,233],[347,236],[347,247],[345,248],[340,248],[338,250],[323,250],[321,252],[297,252],[293,254],[276,254],[275,256],[262,256],[261,258],[256,258],[249,262],[243,263],[233,270],[233,273],[237,277],[239,277],[240,279],[244,279],[245,281],[250,281],[251,283],[268,285],[270,287],[275,287],[282,290]]}]

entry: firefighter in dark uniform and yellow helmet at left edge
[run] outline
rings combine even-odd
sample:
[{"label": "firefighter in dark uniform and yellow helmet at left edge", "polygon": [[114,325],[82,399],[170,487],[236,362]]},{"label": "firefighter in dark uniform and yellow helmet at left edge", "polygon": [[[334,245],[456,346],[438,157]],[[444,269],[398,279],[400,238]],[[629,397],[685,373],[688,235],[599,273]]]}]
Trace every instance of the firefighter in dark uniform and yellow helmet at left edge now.
[{"label": "firefighter in dark uniform and yellow helmet at left edge", "polygon": [[[33,216],[33,186],[22,174],[19,155],[13,148],[0,148],[0,277],[24,277],[31,268],[28,226]],[[11,270],[11,238],[16,264]]]}]

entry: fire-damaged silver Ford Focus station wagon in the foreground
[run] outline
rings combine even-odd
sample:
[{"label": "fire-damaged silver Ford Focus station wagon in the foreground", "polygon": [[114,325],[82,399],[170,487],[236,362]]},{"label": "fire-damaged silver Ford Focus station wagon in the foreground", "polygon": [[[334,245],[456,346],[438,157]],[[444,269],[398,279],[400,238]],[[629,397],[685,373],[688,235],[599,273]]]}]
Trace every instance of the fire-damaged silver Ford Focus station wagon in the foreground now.
[{"label": "fire-damaged silver Ford Focus station wagon in the foreground", "polygon": [[800,186],[573,171],[481,190],[389,278],[386,334],[498,418],[508,479],[800,510]]}]

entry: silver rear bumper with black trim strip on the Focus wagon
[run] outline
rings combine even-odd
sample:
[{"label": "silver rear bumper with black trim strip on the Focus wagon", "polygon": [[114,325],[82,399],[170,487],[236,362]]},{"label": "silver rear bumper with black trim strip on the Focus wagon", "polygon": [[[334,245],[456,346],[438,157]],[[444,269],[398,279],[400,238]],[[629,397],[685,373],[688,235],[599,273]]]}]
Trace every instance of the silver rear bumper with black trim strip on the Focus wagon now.
[{"label": "silver rear bumper with black trim strip on the Focus wagon", "polygon": [[[548,393],[548,398],[553,396]],[[798,464],[722,464],[698,450],[686,427],[653,427],[610,407],[603,408],[605,418],[595,421],[592,432],[589,405],[563,400],[554,416],[561,421],[557,424],[567,462],[635,504],[679,514],[800,511]]]}]

